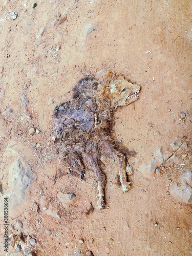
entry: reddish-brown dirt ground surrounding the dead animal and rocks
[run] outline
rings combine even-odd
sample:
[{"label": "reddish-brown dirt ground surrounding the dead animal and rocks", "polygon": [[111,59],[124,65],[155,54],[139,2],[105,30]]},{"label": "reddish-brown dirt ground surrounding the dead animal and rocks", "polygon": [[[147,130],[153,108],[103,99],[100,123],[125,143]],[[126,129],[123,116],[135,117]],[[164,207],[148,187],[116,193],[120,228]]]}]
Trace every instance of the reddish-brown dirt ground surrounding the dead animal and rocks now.
[{"label": "reddish-brown dirt ground surrounding the dead animal and rocks", "polygon": [[[192,2],[33,3],[0,4],[1,164],[8,143],[22,142],[33,152],[30,161],[37,176],[27,207],[9,218],[9,235],[22,222],[22,233],[38,241],[37,255],[86,255],[89,250],[94,256],[192,255],[191,205],[168,193],[191,168]],[[84,181],[65,175],[54,183],[59,169],[67,171],[51,140],[55,106],[65,101],[76,81],[100,70],[122,73],[142,88],[139,100],[117,111],[114,127],[118,140],[137,152],[129,159],[132,188],[123,194],[116,184],[118,166],[106,160],[103,210],[97,210],[93,173]],[[6,114],[9,109],[12,113]],[[31,127],[40,133],[30,136]],[[172,152],[176,137],[188,146],[185,160],[162,166],[159,175],[140,172],[158,147]],[[57,198],[59,191],[75,195],[69,207]],[[90,202],[94,211],[87,215]],[[58,216],[47,214],[50,207]],[[5,255],[23,253],[10,242]]]}]

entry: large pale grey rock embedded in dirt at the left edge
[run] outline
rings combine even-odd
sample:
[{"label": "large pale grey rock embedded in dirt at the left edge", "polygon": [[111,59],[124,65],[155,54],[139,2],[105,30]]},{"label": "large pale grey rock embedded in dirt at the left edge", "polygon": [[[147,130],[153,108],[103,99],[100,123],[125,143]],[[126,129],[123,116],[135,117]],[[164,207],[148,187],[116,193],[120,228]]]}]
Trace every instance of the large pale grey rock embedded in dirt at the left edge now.
[{"label": "large pale grey rock embedded in dirt at the left edge", "polygon": [[[8,198],[10,219],[18,218],[31,205],[31,189],[35,186],[36,175],[28,164],[30,157],[33,161],[31,148],[18,141],[10,142],[4,153],[3,161],[7,166],[5,171],[2,170],[1,183],[4,188],[9,184],[3,192],[4,198]],[[0,209],[3,209],[3,200],[0,200]],[[0,212],[0,219],[2,215],[3,211],[2,214]]]}]

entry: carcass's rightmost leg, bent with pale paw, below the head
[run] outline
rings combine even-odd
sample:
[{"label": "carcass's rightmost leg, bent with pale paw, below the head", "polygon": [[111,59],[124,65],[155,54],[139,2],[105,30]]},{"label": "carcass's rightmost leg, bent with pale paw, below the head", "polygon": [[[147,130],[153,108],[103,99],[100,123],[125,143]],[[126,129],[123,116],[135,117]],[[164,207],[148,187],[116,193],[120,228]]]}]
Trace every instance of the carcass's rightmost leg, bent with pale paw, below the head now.
[{"label": "carcass's rightmost leg, bent with pale paw, below the head", "polygon": [[122,184],[122,190],[123,192],[128,191],[131,186],[131,182],[127,182],[127,176],[132,174],[132,166],[127,163],[126,157],[123,153],[121,153],[119,150],[117,150],[110,141],[104,142],[104,153],[112,156],[114,159],[118,159],[119,161],[119,176],[120,176],[120,182]]}]

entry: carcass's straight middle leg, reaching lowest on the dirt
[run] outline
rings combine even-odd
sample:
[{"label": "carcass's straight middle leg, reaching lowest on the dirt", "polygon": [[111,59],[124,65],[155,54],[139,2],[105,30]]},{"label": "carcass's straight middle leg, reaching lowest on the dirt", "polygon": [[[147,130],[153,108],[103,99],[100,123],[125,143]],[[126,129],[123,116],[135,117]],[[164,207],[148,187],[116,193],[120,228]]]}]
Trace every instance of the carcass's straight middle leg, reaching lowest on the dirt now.
[{"label": "carcass's straight middle leg, reaching lowest on the dirt", "polygon": [[97,153],[95,154],[89,154],[89,153],[84,153],[83,158],[86,162],[86,165],[89,169],[93,170],[95,173],[95,176],[97,178],[97,184],[98,184],[98,201],[97,201],[97,208],[98,209],[103,209],[105,206],[104,203],[104,187],[106,183],[106,176],[102,172],[101,167],[100,167],[100,157],[98,156]]}]

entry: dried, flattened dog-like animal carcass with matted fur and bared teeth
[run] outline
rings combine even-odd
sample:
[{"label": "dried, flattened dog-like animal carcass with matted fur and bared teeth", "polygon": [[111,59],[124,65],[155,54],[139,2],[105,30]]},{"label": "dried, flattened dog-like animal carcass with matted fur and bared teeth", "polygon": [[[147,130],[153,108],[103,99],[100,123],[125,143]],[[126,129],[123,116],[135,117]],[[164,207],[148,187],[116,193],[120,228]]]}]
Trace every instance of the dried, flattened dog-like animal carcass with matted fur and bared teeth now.
[{"label": "dried, flattened dog-like animal carcass with matted fur and bared teeth", "polygon": [[112,126],[114,111],[136,101],[139,91],[140,86],[113,72],[108,72],[102,82],[85,77],[74,87],[72,99],[54,110],[53,136],[60,139],[60,153],[71,174],[83,179],[86,169],[93,170],[98,182],[98,209],[105,205],[101,155],[118,161],[122,190],[130,189],[126,176],[132,174],[126,157],[130,151],[117,143]]}]

